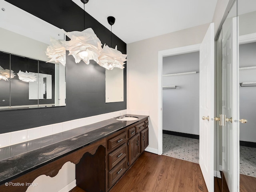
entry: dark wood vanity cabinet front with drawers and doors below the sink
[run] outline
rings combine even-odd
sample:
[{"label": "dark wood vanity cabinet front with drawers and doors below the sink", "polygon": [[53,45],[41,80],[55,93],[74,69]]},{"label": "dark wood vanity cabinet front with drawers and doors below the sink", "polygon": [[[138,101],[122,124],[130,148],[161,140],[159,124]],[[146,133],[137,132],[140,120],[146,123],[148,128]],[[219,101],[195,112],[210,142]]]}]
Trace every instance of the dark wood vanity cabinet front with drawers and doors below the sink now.
[{"label": "dark wood vanity cabinet front with drawers and doors below the sink", "polygon": [[148,146],[148,119],[108,136],[106,143],[106,191],[109,191]]}]

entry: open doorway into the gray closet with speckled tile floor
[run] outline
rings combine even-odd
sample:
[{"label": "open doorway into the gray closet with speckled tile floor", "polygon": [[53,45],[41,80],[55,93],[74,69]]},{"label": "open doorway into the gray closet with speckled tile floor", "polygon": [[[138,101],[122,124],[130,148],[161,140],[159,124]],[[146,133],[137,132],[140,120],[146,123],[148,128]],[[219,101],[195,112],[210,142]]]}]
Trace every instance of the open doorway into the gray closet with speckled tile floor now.
[{"label": "open doorway into the gray closet with speckled tile floor", "polygon": [[199,163],[198,72],[199,51],[163,58],[163,155],[194,163]]}]

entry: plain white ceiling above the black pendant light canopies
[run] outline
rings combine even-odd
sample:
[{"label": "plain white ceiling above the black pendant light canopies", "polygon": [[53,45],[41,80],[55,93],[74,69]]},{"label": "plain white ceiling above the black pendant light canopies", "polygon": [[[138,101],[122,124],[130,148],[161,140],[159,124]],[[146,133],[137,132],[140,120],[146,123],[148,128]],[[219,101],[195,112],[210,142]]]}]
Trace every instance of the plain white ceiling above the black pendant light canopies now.
[{"label": "plain white ceiling above the black pendant light canopies", "polygon": [[[80,0],[72,0],[82,9]],[[85,11],[110,30],[107,17],[114,16],[112,32],[124,42],[212,22],[217,0],[89,0]]]}]

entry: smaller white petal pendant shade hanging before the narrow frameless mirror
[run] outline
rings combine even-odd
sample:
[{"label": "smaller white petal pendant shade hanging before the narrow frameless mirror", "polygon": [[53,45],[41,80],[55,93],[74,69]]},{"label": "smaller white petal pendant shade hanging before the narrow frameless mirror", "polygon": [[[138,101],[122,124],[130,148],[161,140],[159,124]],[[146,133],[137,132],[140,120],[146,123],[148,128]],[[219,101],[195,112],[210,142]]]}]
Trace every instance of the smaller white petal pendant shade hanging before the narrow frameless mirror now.
[{"label": "smaller white petal pendant shade hanging before the narrow frameless mirror", "polygon": [[126,56],[117,50],[117,46],[113,49],[104,44],[98,64],[108,70],[112,70],[114,67],[123,69],[124,62],[127,61]]}]

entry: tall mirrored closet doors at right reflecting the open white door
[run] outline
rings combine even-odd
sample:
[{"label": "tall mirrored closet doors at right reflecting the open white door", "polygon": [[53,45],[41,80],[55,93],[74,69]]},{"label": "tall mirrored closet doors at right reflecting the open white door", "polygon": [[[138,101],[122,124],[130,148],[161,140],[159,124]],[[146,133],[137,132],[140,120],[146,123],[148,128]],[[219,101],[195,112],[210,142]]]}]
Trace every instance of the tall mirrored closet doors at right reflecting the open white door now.
[{"label": "tall mirrored closet doors at right reflecting the open white door", "polygon": [[[220,126],[223,191],[256,191],[256,1],[236,0],[220,34]],[[217,59],[218,61],[218,59]],[[220,75],[221,76],[221,75]],[[247,120],[246,123],[245,120]],[[221,140],[222,138],[222,140]]]}]

